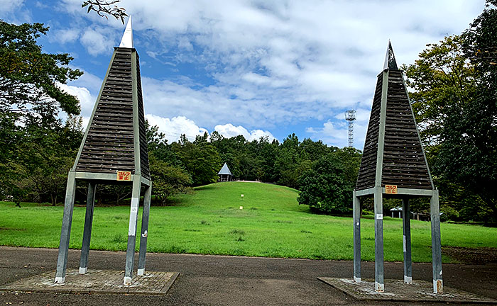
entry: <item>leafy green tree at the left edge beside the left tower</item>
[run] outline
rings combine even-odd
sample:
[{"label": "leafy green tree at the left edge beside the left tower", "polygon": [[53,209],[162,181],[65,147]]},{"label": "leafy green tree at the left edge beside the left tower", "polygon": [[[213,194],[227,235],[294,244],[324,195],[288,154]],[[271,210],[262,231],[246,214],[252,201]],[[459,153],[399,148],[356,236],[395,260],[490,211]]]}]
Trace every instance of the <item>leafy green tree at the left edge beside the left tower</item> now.
[{"label": "leafy green tree at the left edge beside the left tower", "polygon": [[[80,135],[71,125],[72,116],[80,113],[79,101],[62,91],[59,84],[77,79],[82,72],[69,67],[70,55],[42,52],[36,40],[46,33],[48,28],[41,23],[16,26],[0,21],[0,193],[13,196],[16,202],[33,192],[36,184],[29,180],[32,174],[44,173],[40,169],[49,169],[50,165],[66,164],[63,159],[72,154],[73,140]],[[69,125],[62,124],[60,111],[67,113]],[[55,152],[50,147],[66,150]],[[42,154],[45,149],[48,151],[43,154],[48,159],[33,168],[37,164],[27,153]],[[53,175],[46,179],[60,181]],[[57,189],[50,191],[56,201],[58,187],[46,186]]]}]

